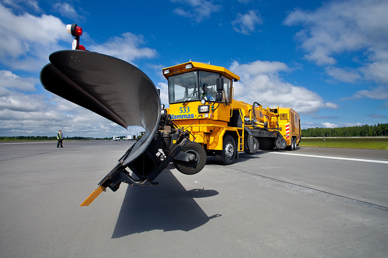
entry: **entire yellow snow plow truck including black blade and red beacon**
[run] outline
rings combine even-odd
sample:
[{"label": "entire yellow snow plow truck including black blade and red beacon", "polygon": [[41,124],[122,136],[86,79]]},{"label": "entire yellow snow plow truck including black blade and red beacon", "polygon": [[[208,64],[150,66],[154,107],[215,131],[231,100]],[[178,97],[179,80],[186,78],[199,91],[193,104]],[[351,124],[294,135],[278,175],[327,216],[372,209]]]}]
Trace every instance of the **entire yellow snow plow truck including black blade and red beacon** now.
[{"label": "entire yellow snow plow truck including black blade and red beacon", "polygon": [[120,59],[83,51],[81,27],[67,25],[67,30],[75,37],[73,50],[50,54],[40,74],[42,85],[124,128],[145,129],[81,206],[108,187],[116,191],[121,182],[158,184],[155,178],[170,162],[193,175],[205,166],[207,155],[228,165],[238,152],[255,153],[259,146],[294,150],[300,141],[294,110],[234,100],[232,84],[240,77],[223,67],[190,61],[163,69],[170,104],[164,108],[146,74]]}]

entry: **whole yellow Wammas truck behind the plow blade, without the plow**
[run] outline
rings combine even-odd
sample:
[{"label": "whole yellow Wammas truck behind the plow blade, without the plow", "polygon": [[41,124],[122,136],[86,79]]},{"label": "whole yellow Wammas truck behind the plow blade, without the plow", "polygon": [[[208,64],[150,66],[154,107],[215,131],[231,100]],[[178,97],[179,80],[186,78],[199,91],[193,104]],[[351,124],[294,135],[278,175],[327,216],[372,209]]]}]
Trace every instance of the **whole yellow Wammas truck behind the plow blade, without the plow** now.
[{"label": "whole yellow Wammas truck behind the plow blade, without the plow", "polygon": [[190,140],[200,143],[218,164],[232,164],[242,151],[293,151],[299,144],[299,114],[288,107],[263,108],[257,102],[234,100],[233,82],[240,77],[226,68],[190,61],[162,71],[170,104],[162,113],[188,130]]}]

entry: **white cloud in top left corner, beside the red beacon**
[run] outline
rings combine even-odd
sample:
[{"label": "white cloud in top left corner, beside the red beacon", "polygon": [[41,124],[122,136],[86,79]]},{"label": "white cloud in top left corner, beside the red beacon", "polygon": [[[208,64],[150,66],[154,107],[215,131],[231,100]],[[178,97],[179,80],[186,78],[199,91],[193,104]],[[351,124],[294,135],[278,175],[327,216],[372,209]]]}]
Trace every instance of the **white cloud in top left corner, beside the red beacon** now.
[{"label": "white cloud in top left corner, beside the red beacon", "polygon": [[52,15],[15,15],[0,4],[0,62],[15,70],[38,71],[49,54],[68,40],[65,24]]}]

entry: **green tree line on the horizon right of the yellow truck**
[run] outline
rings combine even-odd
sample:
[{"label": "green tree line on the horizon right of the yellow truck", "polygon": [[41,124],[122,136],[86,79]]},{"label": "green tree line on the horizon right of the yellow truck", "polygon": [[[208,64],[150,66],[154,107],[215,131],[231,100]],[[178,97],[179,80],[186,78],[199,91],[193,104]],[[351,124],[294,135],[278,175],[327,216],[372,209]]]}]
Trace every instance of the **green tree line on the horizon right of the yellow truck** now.
[{"label": "green tree line on the horizon right of the yellow truck", "polygon": [[388,123],[377,125],[362,125],[336,128],[307,128],[302,129],[302,137],[370,137],[387,136]]}]

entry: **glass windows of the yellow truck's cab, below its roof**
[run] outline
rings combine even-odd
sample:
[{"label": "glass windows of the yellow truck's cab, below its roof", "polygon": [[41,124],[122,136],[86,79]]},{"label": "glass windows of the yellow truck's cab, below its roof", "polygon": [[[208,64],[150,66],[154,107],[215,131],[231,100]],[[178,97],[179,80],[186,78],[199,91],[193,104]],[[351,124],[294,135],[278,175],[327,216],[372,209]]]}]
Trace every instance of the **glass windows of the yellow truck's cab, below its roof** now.
[{"label": "glass windows of the yellow truck's cab, below its roof", "polygon": [[[168,78],[168,97],[169,103],[199,101],[215,101],[216,82],[220,75],[204,71],[194,71],[186,74],[170,76]],[[227,103],[231,80],[224,78],[224,91],[222,92],[222,102]]]}]

